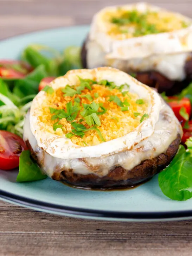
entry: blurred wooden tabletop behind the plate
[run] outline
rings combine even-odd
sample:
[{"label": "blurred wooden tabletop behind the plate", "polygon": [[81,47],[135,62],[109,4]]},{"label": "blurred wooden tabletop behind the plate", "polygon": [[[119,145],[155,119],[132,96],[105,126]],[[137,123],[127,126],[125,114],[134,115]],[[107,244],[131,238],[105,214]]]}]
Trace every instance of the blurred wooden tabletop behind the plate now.
[{"label": "blurred wooden tabletop behind the plate", "polygon": [[[0,39],[26,32],[89,24],[104,6],[135,0],[0,0]],[[150,4],[178,11],[192,18],[192,0],[149,0]]]}]

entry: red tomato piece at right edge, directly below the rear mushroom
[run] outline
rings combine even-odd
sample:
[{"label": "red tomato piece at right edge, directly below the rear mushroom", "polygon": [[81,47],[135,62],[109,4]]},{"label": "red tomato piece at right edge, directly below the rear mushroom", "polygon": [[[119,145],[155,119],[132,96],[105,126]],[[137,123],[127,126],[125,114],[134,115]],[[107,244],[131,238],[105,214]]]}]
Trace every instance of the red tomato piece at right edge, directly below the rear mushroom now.
[{"label": "red tomato piece at right edge, directly below the rear mushroom", "polygon": [[186,120],[183,116],[180,115],[179,111],[182,107],[185,108],[186,113],[190,116],[191,115],[191,103],[188,98],[183,98],[181,100],[178,99],[176,96],[168,97],[169,106],[173,109],[173,112],[177,119],[182,123],[182,125],[185,124]]}]

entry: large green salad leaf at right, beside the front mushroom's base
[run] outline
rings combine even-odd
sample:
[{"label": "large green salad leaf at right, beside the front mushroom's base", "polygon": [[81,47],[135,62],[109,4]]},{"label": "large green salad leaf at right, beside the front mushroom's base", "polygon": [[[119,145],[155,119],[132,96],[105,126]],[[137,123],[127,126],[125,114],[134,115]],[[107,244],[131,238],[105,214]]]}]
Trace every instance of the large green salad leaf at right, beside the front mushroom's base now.
[{"label": "large green salad leaf at right, beside the front mushroom's base", "polygon": [[192,141],[186,144],[188,149],[180,145],[171,164],[159,174],[161,191],[173,200],[184,201],[192,197]]}]

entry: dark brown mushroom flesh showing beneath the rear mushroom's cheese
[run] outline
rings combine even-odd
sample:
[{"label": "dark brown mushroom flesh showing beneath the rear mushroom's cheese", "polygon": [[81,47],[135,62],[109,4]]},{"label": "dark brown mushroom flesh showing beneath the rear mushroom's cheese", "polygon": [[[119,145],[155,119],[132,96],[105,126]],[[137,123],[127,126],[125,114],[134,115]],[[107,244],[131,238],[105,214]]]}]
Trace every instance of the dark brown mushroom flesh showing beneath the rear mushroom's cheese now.
[{"label": "dark brown mushroom flesh showing beneath the rear mushroom's cheese", "polygon": [[[81,51],[81,59],[83,68],[87,67],[87,49],[86,49],[86,41],[82,46]],[[162,75],[159,72],[149,70],[146,72],[138,72],[135,70],[123,70],[127,73],[134,73],[135,78],[143,84],[146,84],[150,87],[156,88],[159,93],[164,91],[167,92],[167,95],[174,95],[178,94],[181,90],[183,90],[187,85],[191,82],[192,79],[192,58],[189,58],[185,64],[185,72],[186,72],[186,79],[183,81],[171,81]]]}]

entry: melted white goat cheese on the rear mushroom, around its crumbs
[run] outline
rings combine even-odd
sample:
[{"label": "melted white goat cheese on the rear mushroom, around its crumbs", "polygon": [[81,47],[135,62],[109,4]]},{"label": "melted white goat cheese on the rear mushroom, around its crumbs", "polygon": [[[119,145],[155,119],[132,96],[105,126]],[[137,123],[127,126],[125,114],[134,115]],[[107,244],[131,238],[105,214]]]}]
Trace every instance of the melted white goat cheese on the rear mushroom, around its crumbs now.
[{"label": "melted white goat cheese on the rear mushroom, around its crumbs", "polygon": [[[92,20],[86,43],[88,68],[113,66],[123,71],[133,72],[155,70],[170,80],[183,80],[185,62],[191,57],[192,51],[192,25],[173,32],[116,40],[108,35],[103,21],[103,14],[114,11],[116,8],[104,8]],[[147,9],[164,11],[145,3],[125,5],[121,8],[143,12]],[[191,24],[191,20],[187,17],[177,13],[175,17],[181,17]]]}]

